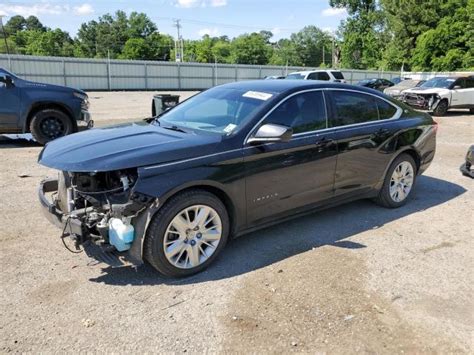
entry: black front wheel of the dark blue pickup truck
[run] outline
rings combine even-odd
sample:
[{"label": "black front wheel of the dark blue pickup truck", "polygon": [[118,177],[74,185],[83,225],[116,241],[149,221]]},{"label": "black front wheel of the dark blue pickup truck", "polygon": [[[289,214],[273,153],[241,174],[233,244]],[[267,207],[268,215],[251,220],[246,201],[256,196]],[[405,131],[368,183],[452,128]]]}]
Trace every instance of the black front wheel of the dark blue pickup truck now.
[{"label": "black front wheel of the dark blue pickup truck", "polygon": [[46,144],[53,139],[66,136],[73,132],[71,118],[56,109],[46,109],[37,112],[30,123],[30,132],[40,144]]}]

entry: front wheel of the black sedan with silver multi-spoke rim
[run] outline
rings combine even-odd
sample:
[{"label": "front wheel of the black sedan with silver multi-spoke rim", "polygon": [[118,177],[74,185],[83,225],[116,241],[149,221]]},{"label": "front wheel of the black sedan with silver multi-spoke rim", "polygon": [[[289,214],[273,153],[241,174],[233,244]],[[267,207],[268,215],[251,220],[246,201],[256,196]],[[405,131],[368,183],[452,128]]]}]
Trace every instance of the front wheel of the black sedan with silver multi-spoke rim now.
[{"label": "front wheel of the black sedan with silver multi-spoke rim", "polygon": [[185,277],[208,267],[229,236],[229,216],[222,201],[204,190],[171,198],[150,222],[145,258],[160,273]]}]

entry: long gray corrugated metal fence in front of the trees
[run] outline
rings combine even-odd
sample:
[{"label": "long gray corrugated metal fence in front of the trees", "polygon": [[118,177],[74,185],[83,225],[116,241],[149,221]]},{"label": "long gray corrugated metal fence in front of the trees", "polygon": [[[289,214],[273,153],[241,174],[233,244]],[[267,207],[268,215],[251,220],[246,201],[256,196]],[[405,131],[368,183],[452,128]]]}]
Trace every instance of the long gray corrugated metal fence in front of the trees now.
[{"label": "long gray corrugated metal fence in front of the trees", "polygon": [[[35,57],[0,54],[0,67],[32,81],[83,90],[201,90],[242,80],[313,68]],[[342,70],[349,83],[390,79],[400,72]]]}]

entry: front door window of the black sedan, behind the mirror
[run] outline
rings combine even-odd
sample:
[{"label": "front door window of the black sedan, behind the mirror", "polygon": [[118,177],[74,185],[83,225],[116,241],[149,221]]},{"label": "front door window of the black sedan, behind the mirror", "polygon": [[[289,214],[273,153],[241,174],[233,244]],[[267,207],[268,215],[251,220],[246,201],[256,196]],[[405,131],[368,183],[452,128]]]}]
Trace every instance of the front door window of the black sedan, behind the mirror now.
[{"label": "front door window of the black sedan, behind the mirror", "polygon": [[293,133],[305,133],[327,128],[326,107],[322,91],[312,91],[290,97],[263,122],[293,128]]}]

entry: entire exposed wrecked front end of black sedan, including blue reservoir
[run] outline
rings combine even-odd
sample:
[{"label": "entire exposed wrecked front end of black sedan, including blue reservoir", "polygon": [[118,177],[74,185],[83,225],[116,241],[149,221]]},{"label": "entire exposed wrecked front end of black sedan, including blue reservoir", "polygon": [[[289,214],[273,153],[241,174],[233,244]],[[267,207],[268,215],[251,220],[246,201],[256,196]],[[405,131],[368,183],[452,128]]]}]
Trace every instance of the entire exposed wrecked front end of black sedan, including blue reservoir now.
[{"label": "entire exposed wrecked front end of black sedan, including blue reservoir", "polygon": [[75,250],[84,248],[112,266],[140,265],[147,223],[143,212],[158,202],[134,191],[137,179],[137,169],[61,172],[58,179],[41,182],[39,199],[48,220]]}]

